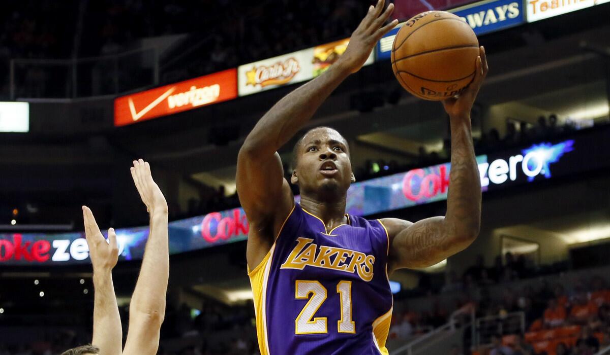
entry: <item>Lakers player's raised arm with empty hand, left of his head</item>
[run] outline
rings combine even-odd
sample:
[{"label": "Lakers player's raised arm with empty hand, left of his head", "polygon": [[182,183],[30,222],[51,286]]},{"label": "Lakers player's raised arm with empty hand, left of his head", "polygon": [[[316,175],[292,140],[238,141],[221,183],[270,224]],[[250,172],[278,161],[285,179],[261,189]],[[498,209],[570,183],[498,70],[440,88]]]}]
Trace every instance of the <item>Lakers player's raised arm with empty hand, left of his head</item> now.
[{"label": "Lakers player's raised arm with empty hand, left of his head", "polygon": [[[284,219],[292,208],[293,197],[283,178],[282,163],[276,150],[309,121],[315,111],[351,72],[358,71],[379,39],[398,21],[384,26],[394,6],[384,11],[384,0],[368,9],[354,31],[345,53],[323,75],[279,100],[249,133],[237,159],[237,192],[251,224],[248,237],[248,264],[254,267],[267,253],[272,240],[261,240],[274,230],[276,219]],[[277,218],[276,218],[277,217]],[[281,222],[280,222],[281,223]]]}]

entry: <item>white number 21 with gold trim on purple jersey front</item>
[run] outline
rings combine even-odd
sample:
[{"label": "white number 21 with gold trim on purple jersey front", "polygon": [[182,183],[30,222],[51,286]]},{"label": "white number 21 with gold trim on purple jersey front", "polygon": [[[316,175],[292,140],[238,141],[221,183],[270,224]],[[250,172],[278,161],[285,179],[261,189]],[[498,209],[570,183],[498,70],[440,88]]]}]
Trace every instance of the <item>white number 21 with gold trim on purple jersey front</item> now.
[{"label": "white number 21 with gold trim on purple jersey front", "polygon": [[[307,304],[295,320],[295,334],[323,334],[328,332],[326,317],[314,317],[326,300],[326,287],[318,281],[296,280],[295,298],[307,300]],[[341,319],[337,321],[337,332],[355,333],[356,323],[351,320],[351,281],[340,281],[337,284],[340,296]]]}]

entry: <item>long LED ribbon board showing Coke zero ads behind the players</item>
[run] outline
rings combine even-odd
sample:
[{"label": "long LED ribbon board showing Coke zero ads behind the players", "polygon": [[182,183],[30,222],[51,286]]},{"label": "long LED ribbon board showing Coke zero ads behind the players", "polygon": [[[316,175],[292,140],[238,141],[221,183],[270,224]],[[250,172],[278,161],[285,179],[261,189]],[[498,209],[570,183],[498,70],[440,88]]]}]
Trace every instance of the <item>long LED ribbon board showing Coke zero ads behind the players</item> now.
[{"label": "long LED ribbon board showing Coke zero ads behind the players", "polygon": [[[610,166],[609,129],[590,130],[570,139],[542,141],[519,149],[476,157],[483,192],[529,185]],[[412,169],[354,183],[346,211],[356,216],[447,199],[451,164]],[[299,197],[296,197],[299,200]],[[241,208],[169,223],[170,254],[243,241],[249,231]],[[120,260],[142,259],[148,227],[117,230]],[[0,234],[1,265],[86,264],[84,233]]]}]

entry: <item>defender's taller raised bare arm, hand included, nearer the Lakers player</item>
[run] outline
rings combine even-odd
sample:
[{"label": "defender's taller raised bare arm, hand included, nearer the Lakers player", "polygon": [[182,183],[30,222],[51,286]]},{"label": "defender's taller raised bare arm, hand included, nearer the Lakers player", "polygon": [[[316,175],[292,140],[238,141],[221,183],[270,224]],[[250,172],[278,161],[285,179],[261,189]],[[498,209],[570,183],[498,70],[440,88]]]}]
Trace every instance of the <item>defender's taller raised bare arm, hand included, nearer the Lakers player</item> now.
[{"label": "defender's taller raised bare arm, hand included, nearer the Lakers player", "polygon": [[150,214],[150,233],[140,276],[129,304],[129,331],[124,353],[153,355],[159,348],[159,331],[165,317],[165,293],[170,272],[167,202],[142,159],[131,168],[135,187]]}]

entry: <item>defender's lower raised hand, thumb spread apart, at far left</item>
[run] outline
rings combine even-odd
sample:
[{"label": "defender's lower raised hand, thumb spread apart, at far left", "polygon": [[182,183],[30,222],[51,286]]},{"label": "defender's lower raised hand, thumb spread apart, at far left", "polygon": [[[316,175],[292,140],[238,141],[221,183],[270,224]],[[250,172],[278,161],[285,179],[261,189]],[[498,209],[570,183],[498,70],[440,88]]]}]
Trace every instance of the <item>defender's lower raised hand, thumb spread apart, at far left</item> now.
[{"label": "defender's lower raised hand, thumb spread apart, at far left", "polygon": [[93,264],[93,272],[110,272],[118,261],[117,234],[113,228],[108,230],[108,242],[99,230],[98,223],[91,209],[82,206],[82,216],[85,221],[85,237],[89,246],[89,256]]}]

